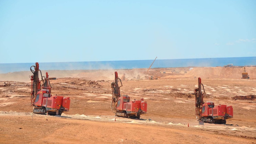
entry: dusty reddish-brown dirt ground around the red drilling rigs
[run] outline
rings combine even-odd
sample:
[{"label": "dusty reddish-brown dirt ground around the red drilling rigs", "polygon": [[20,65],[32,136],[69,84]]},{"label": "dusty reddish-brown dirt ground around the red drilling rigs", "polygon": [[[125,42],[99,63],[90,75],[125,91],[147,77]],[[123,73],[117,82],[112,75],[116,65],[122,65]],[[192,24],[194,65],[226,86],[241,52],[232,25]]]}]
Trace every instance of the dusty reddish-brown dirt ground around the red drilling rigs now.
[{"label": "dusty reddish-brown dirt ground around the red drilling rigs", "polygon": [[[0,143],[256,143],[255,67],[246,67],[250,79],[241,79],[243,68],[146,70],[48,71],[57,77],[50,81],[52,94],[71,98],[70,111],[61,116],[31,113],[31,72],[0,74]],[[127,78],[121,94],[147,101],[148,112],[140,119],[116,117],[111,111],[115,71]],[[148,80],[150,76],[158,79]],[[204,101],[232,105],[234,118],[198,127],[192,94],[197,77],[204,84]]]}]

